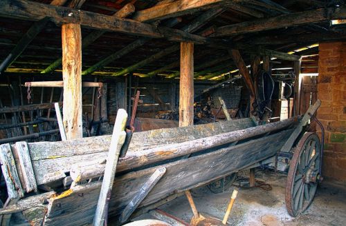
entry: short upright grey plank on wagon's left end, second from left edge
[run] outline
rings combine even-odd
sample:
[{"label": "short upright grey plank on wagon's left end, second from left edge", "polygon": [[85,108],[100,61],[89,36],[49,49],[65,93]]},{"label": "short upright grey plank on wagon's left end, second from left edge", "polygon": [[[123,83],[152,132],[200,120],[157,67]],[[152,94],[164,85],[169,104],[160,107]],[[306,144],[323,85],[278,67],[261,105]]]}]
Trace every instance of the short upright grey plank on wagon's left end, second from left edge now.
[{"label": "short upright grey plank on wagon's left end, second from left edge", "polygon": [[21,170],[23,171],[22,174],[24,177],[24,186],[26,192],[37,192],[37,184],[33,165],[30,160],[28,143],[26,143],[25,141],[17,142],[15,146],[18,152],[19,164],[21,165]]}]

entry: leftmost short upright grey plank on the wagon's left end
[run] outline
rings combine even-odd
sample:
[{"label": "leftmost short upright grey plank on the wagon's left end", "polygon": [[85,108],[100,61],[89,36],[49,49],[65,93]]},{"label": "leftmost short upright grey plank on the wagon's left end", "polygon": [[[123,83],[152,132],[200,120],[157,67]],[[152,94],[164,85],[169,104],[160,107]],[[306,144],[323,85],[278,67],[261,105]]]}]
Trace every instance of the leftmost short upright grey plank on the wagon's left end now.
[{"label": "leftmost short upright grey plank on the wagon's left end", "polygon": [[8,198],[17,199],[23,197],[24,191],[19,181],[11,146],[8,143],[0,145],[0,161],[1,171],[6,182]]}]

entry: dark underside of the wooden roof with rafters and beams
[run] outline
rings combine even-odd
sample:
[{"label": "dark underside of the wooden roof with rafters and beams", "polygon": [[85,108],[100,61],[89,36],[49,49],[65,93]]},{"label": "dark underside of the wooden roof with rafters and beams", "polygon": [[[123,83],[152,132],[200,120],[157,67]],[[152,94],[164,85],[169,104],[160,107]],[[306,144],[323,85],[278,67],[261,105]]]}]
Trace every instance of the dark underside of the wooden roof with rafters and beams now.
[{"label": "dark underside of the wooden roof with rafters and beams", "polygon": [[[57,8],[67,12],[66,8],[56,6],[61,4],[65,7],[80,8],[83,13],[95,13],[77,18],[82,24],[83,40],[95,34],[95,28],[102,26],[100,25],[102,20],[108,23],[102,35],[98,34],[98,39],[82,49],[84,74],[92,72],[104,76],[123,76],[130,72],[135,76],[179,77],[176,73],[179,72],[179,41],[191,39],[197,42],[194,51],[195,72],[199,73],[199,79],[212,79],[235,69],[228,53],[231,48],[239,48],[246,63],[250,64],[250,55],[258,52],[271,56],[277,56],[282,52],[284,54],[278,58],[286,59],[285,53],[291,50],[320,41],[346,39],[345,26],[330,23],[330,19],[334,17],[345,17],[346,8],[343,1],[328,1],[329,5],[326,5],[325,1],[317,0],[3,0],[2,2],[0,5],[6,7],[1,6],[3,8],[0,12],[0,63],[10,63],[4,70],[8,74],[46,72],[42,75],[48,76],[61,73],[60,63],[57,63],[57,67],[53,69],[52,63],[62,56],[60,24],[67,17],[57,18],[53,15],[54,10],[52,13],[49,11]],[[11,2],[12,5],[7,7],[6,2]],[[129,4],[132,4],[135,10],[126,17],[129,20],[98,17],[99,14],[112,16]],[[49,6],[51,8],[46,10],[45,7]],[[31,7],[33,12],[29,13],[28,8]],[[42,18],[49,17],[47,21],[42,22],[40,10]],[[57,14],[61,15],[62,10],[57,10]],[[203,18],[207,18],[206,21],[196,25]],[[43,25],[35,31],[33,28],[37,27],[37,23]],[[129,24],[128,27],[121,30],[123,29],[121,26],[125,23]],[[189,28],[191,24],[195,25],[194,29]],[[116,25],[121,28],[116,28]],[[173,30],[165,26],[171,26]],[[129,27],[131,29],[128,29]],[[185,33],[178,30],[184,30]],[[37,35],[33,35],[35,32]],[[190,36],[189,33],[197,35]],[[159,35],[162,37],[158,37]],[[23,43],[23,39],[27,45],[19,44]],[[129,48],[129,44],[134,45],[135,41],[137,41],[135,47],[125,51],[124,54],[124,48]],[[318,48],[311,48],[294,54],[305,52],[313,54],[317,51]],[[9,57],[11,53],[15,54]],[[13,55],[18,57],[15,58]],[[9,60],[6,62],[6,59]],[[93,65],[98,67],[91,70]],[[50,66],[51,70],[48,68]]]}]

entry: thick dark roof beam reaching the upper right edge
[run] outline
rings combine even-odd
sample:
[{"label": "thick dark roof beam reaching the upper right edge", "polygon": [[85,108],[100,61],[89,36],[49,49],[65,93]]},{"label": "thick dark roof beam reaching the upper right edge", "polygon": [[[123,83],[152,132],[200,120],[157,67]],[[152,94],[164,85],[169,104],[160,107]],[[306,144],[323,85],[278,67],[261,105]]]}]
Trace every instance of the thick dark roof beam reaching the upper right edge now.
[{"label": "thick dark roof beam reaching the upper right edge", "polygon": [[290,14],[283,14],[277,17],[256,19],[254,21],[246,21],[242,23],[236,23],[234,25],[226,25],[217,28],[217,31],[215,32],[215,34],[212,34],[212,37],[224,37],[236,34],[260,32],[263,30],[286,28],[295,25],[318,23],[322,21],[328,21],[330,19],[343,18],[346,18],[346,6],[340,6],[338,8],[320,8],[317,10],[294,12]]}]

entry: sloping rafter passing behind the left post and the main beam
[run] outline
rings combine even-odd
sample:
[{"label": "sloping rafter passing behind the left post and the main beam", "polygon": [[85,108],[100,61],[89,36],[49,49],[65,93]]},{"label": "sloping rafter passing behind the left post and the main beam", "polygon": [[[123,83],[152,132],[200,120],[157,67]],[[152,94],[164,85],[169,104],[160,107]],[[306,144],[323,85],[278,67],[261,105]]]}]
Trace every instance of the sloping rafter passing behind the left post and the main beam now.
[{"label": "sloping rafter passing behind the left post and the main beam", "polygon": [[[127,3],[124,7],[122,7],[118,12],[113,14],[112,17],[118,17],[118,18],[125,18],[129,16],[129,14],[132,14],[134,12],[135,8],[134,5],[131,3]],[[100,38],[104,34],[103,30],[95,30],[88,34],[83,40],[82,40],[82,48],[86,48],[91,43],[96,41],[96,39]],[[44,69],[41,73],[46,74],[53,72],[55,69],[57,69],[62,64],[62,58],[56,59],[51,65],[48,65],[46,69]]]}]

